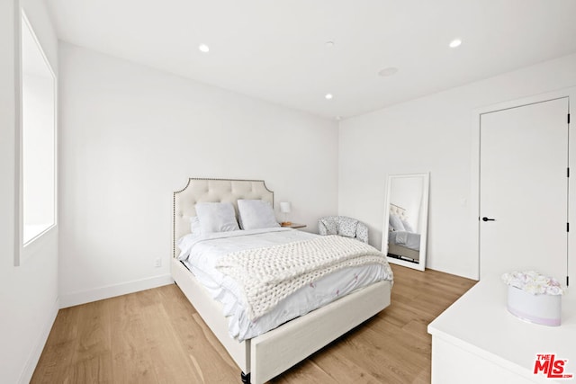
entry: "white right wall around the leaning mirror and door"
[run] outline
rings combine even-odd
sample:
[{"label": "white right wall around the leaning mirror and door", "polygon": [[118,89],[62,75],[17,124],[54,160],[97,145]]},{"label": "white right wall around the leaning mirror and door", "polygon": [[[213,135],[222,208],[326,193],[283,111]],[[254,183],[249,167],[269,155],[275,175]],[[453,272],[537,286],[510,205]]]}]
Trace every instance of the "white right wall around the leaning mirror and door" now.
[{"label": "white right wall around the leaning mirror and door", "polygon": [[339,213],[364,220],[380,248],[386,176],[429,171],[427,267],[475,278],[473,111],[572,85],[576,55],[341,121]]}]

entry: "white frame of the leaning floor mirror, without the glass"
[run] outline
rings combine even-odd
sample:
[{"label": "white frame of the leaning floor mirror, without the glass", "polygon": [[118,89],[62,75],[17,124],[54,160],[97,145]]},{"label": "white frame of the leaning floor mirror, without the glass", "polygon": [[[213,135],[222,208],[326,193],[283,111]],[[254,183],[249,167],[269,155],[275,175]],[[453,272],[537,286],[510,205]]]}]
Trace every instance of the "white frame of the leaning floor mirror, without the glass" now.
[{"label": "white frame of the leaning floor mirror, without the glass", "polygon": [[[401,180],[411,177],[420,177],[423,182],[423,199],[422,210],[423,214],[426,215],[426,219],[422,222],[420,228],[420,255],[419,263],[412,263],[407,260],[397,259],[395,257],[388,257],[388,233],[390,230],[390,204],[391,204],[391,192],[392,192],[392,182],[394,180]],[[430,173],[424,174],[389,174],[387,185],[386,185],[386,199],[384,204],[384,225],[382,234],[382,252],[386,255],[389,263],[403,265],[405,267],[417,269],[419,271],[424,271],[426,268],[426,245],[428,241],[428,197],[429,197],[429,186],[430,186]]]}]

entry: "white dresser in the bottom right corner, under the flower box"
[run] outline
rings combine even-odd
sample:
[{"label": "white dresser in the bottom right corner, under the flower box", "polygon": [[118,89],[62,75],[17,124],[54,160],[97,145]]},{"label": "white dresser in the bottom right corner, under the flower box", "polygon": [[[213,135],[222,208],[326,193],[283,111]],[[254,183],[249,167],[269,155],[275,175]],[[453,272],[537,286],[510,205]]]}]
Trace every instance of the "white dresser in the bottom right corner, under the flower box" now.
[{"label": "white dresser in the bottom right corner, under the flower box", "polygon": [[[576,383],[576,291],[563,295],[562,326],[540,326],[509,313],[507,289],[483,278],[428,325],[433,384]],[[536,355],[553,353],[572,379],[534,373]]]}]

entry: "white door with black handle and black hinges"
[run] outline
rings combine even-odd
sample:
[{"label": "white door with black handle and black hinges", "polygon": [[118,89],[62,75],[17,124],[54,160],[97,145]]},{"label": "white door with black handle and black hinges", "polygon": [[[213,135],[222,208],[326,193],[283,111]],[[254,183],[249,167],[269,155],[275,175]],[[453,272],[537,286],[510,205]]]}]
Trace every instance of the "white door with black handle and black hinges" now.
[{"label": "white door with black handle and black hinges", "polygon": [[568,98],[481,116],[480,276],[568,276]]}]

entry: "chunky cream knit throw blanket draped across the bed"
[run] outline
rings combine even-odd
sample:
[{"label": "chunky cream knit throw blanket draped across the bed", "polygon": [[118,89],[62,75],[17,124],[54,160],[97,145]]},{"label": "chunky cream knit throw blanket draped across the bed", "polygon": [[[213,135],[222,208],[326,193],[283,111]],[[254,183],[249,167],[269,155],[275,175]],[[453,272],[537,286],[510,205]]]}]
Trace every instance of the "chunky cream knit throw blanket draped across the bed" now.
[{"label": "chunky cream knit throw blanket draped across the bed", "polygon": [[222,257],[216,268],[244,288],[247,316],[254,320],[330,272],[374,263],[383,264],[392,279],[383,253],[353,238],[332,235],[233,252]]}]

